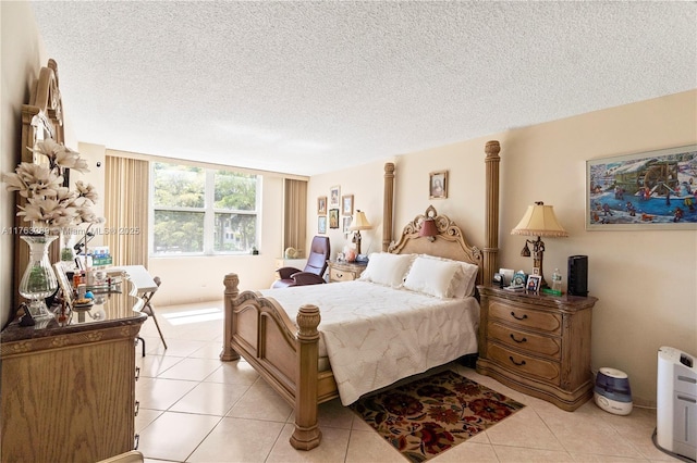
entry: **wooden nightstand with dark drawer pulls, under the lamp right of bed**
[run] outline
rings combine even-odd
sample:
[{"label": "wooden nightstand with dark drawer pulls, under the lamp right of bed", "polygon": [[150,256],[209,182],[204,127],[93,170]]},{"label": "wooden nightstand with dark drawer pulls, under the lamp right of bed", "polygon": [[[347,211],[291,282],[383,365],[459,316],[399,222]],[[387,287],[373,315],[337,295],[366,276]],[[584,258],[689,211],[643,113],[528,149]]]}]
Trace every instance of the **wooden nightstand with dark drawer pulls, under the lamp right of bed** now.
[{"label": "wooden nightstand with dark drawer pulls, under the lamp right of bed", "polygon": [[592,396],[590,329],[597,299],[479,286],[477,372],[574,411]]}]

